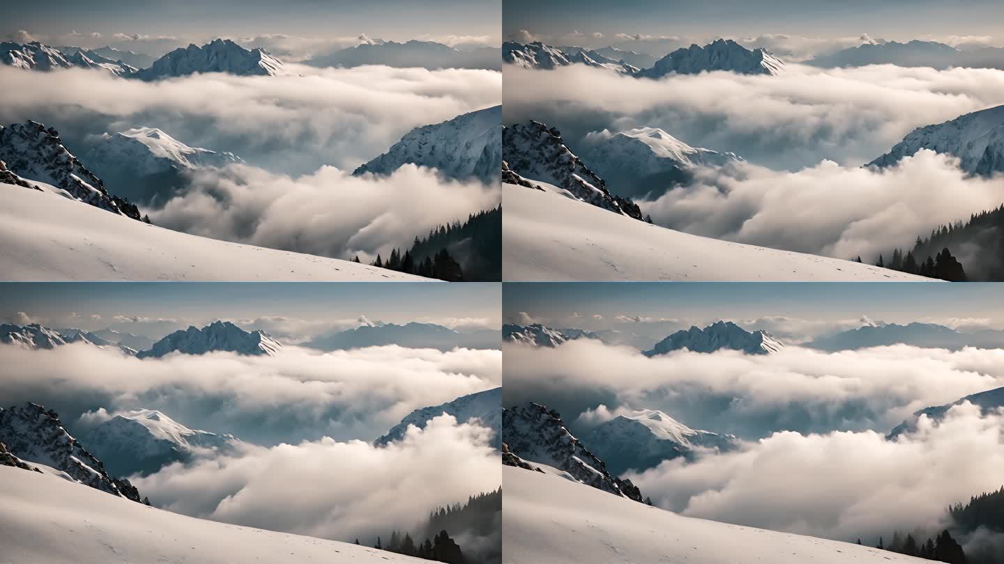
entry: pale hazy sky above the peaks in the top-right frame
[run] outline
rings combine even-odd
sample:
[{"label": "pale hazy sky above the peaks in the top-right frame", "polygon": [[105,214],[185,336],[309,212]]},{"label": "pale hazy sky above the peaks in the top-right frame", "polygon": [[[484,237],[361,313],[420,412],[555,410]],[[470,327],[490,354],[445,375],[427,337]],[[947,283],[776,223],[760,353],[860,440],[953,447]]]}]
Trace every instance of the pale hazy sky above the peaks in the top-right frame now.
[{"label": "pale hazy sky above the peaks in the top-right frame", "polygon": [[[559,35],[602,33],[616,42],[618,33],[651,36],[748,36],[785,33],[838,37],[1000,34],[1004,5],[992,0],[717,0],[654,2],[625,0],[506,0],[503,35],[520,29]],[[588,40],[588,38],[583,38]]]}]

